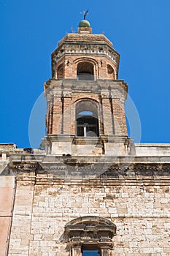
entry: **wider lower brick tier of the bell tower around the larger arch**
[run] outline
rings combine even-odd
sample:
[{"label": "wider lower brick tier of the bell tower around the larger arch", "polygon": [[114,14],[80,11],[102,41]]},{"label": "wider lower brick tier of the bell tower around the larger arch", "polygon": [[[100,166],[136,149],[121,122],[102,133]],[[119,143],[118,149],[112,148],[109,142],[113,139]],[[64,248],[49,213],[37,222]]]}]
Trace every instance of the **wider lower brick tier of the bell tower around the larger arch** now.
[{"label": "wider lower brick tier of the bell tower around the larger arch", "polygon": [[[63,86],[63,88],[62,88]],[[73,86],[75,86],[73,88]],[[98,87],[101,89],[98,89]],[[110,89],[108,89],[110,88]],[[50,90],[48,92],[48,90]],[[104,123],[104,135],[127,135],[124,102],[127,85],[123,81],[98,81],[87,83],[77,80],[50,81],[47,85],[47,134],[76,134],[77,102],[96,102],[98,123]],[[62,101],[63,95],[63,101]],[[110,100],[111,99],[111,100]],[[103,116],[103,120],[101,120]],[[63,124],[63,127],[62,127]]]}]

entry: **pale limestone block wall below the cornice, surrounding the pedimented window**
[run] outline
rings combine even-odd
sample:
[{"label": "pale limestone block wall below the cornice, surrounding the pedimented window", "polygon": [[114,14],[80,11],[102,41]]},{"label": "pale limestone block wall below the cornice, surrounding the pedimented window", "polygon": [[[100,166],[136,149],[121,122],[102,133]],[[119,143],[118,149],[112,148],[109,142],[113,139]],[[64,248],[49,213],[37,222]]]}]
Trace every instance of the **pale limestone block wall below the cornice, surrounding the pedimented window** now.
[{"label": "pale limestone block wall below the cornice, surrounding the pedimented window", "polygon": [[69,256],[64,226],[88,215],[117,226],[112,255],[169,255],[169,191],[147,180],[18,181],[9,256]]}]

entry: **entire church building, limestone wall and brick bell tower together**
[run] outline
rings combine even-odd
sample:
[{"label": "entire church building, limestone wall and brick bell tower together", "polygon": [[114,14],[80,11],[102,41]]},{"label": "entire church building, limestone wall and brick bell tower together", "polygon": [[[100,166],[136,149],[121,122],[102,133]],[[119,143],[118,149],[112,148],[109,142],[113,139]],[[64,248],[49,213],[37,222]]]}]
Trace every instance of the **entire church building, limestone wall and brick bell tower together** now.
[{"label": "entire church building, limestone wall and brick bell tower together", "polygon": [[82,20],[51,60],[44,150],[0,144],[0,255],[170,255],[170,144],[128,137],[119,53]]}]

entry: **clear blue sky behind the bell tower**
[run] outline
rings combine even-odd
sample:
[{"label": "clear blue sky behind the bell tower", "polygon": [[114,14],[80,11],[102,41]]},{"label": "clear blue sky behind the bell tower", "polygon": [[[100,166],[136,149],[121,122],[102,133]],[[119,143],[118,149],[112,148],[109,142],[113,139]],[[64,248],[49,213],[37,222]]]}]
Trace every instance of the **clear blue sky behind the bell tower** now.
[{"label": "clear blue sky behind the bell tower", "polygon": [[[88,9],[93,33],[104,31],[120,53],[119,78],[139,112],[141,141],[170,142],[169,0],[0,0],[0,143],[30,146],[29,118],[51,77],[50,53]],[[39,125],[31,124],[35,147],[45,135],[41,102]]]}]

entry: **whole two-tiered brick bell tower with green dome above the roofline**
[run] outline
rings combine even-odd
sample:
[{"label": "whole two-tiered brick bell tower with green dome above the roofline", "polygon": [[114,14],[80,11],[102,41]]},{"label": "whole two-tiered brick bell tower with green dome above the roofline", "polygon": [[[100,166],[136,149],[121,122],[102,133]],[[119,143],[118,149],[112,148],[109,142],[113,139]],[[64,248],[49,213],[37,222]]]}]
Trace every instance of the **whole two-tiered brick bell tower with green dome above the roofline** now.
[{"label": "whole two-tiered brick bell tower with green dome above the roofline", "polygon": [[125,122],[128,85],[118,80],[120,55],[88,20],[67,34],[51,55],[47,98],[46,154],[101,156],[134,154]]}]

